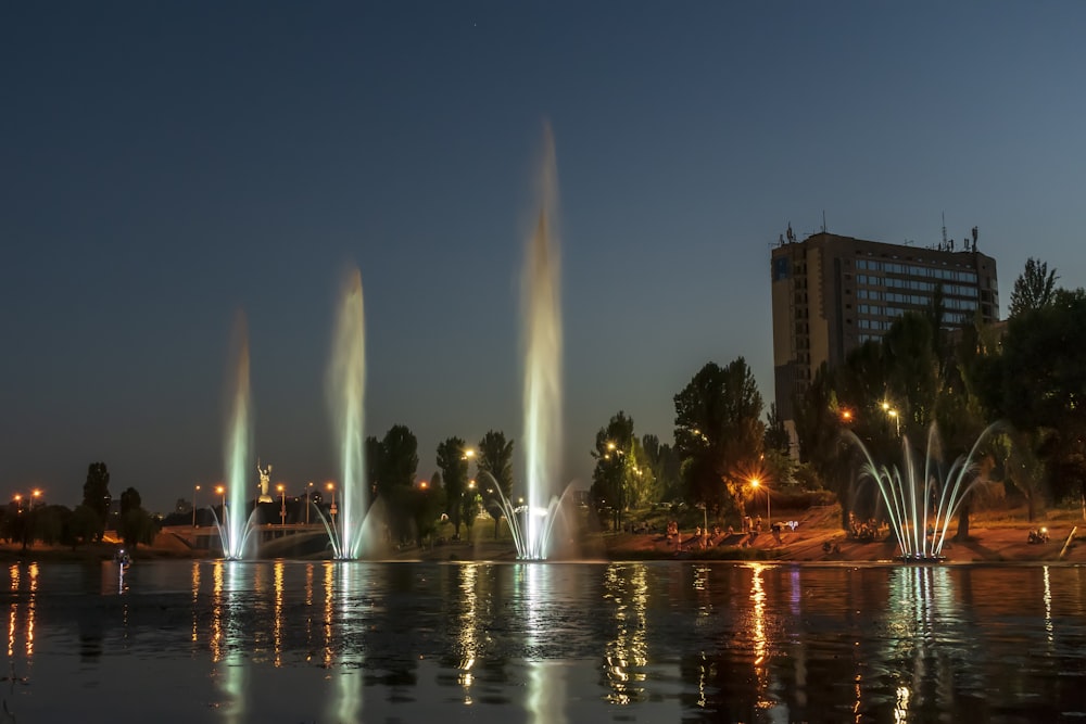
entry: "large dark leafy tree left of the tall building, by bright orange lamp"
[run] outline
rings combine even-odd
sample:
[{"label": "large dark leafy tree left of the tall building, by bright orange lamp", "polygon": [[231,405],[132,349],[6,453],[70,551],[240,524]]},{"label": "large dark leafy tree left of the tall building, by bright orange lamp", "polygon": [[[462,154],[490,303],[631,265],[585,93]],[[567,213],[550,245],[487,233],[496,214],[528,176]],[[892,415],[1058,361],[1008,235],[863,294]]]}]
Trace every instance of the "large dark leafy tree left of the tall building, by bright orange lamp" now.
[{"label": "large dark leafy tree left of the tall building, by bright orange lamp", "polygon": [[674,396],[675,449],[687,499],[733,510],[761,474],[762,402],[743,357],[708,363]]}]

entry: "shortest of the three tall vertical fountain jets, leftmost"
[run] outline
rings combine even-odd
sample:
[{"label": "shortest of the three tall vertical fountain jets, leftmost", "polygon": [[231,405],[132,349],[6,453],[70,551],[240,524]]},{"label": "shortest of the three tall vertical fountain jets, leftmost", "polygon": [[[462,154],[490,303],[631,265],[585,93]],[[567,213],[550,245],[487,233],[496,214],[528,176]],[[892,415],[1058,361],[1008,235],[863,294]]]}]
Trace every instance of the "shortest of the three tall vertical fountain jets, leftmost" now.
[{"label": "shortest of the three tall vertical fountain jets, leftmost", "polygon": [[239,312],[233,325],[230,350],[232,385],[227,393],[226,441],[223,445],[224,468],[226,470],[226,493],[229,503],[223,507],[223,519],[218,521],[223,539],[223,555],[238,560],[244,555],[248,533],[251,530],[245,519],[248,503],[245,491],[250,470],[249,450],[252,446],[251,403],[249,391],[249,332],[244,313]]}]

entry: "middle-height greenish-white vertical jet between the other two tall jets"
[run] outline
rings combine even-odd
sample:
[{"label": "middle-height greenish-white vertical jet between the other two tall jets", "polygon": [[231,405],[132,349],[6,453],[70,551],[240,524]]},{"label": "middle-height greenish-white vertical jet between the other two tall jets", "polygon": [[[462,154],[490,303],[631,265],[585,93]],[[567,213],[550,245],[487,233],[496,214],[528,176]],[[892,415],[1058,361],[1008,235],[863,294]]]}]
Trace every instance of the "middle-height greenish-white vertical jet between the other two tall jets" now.
[{"label": "middle-height greenish-white vertical jet between the other two tall jets", "polygon": [[365,480],[364,403],[366,394],[366,329],[362,275],[348,275],[336,321],[332,359],[328,368],[328,401],[339,435],[339,519],[332,517],[329,537],[336,558],[355,559],[363,552],[363,521],[368,491]]}]

